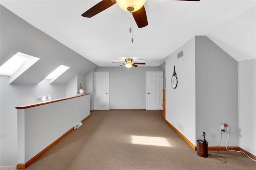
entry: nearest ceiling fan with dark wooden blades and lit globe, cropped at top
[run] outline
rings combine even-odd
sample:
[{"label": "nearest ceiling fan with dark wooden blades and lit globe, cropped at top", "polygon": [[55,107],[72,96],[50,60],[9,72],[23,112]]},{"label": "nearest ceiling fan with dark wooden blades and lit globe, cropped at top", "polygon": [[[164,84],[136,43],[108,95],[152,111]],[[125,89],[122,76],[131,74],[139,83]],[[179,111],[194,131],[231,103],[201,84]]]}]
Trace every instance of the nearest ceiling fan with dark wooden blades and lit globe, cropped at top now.
[{"label": "nearest ceiling fan with dark wooden blades and lit globe, cropped at top", "polygon": [[[185,1],[200,1],[200,0],[185,0]],[[102,0],[92,8],[84,12],[82,16],[91,18],[96,14],[106,10],[114,4],[118,4],[122,10],[132,12],[132,16],[138,25],[138,28],[142,28],[148,25],[148,19],[146,10],[144,8],[146,0]]]}]

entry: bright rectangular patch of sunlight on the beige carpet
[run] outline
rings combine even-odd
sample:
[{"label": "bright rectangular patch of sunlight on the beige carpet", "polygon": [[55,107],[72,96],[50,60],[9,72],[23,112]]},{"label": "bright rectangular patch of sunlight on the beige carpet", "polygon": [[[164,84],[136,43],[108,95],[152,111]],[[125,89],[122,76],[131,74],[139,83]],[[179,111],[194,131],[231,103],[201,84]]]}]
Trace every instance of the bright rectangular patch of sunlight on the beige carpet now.
[{"label": "bright rectangular patch of sunlight on the beige carpet", "polygon": [[144,144],[153,146],[166,146],[171,147],[170,142],[166,138],[151,137],[151,136],[131,136],[132,144]]}]

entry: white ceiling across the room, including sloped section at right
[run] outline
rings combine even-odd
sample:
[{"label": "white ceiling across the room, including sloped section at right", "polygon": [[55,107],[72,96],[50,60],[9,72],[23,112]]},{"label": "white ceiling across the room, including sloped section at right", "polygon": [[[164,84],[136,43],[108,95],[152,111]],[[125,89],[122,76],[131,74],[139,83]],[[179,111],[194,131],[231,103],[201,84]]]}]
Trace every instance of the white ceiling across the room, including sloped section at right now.
[{"label": "white ceiling across the room, including sloped section at right", "polygon": [[[256,58],[256,0],[146,0],[148,26],[138,28],[114,4],[92,18],[81,16],[100,0],[1,0],[20,18],[96,65],[134,58],[159,66],[194,36],[208,36],[236,61]],[[2,42],[1,42],[2,43]]]}]

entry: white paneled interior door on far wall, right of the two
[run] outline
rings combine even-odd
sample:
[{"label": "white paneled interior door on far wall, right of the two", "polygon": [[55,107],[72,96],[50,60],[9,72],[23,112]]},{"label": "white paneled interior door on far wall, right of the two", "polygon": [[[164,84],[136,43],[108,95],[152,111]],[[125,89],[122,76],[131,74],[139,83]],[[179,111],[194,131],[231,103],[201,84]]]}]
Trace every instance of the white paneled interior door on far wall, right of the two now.
[{"label": "white paneled interior door on far wall, right of the two", "polygon": [[146,72],[147,110],[162,110],[163,72]]}]

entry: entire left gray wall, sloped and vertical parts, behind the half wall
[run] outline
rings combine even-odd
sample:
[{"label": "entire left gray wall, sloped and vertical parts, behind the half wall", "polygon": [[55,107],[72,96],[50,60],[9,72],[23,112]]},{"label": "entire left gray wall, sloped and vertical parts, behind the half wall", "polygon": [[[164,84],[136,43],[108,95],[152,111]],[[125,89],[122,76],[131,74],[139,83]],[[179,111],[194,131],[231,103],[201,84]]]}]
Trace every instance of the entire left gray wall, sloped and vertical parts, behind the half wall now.
[{"label": "entire left gray wall, sloped and vertical parts, behind the half wall", "polygon": [[[52,99],[66,97],[65,84],[68,81],[76,75],[84,76],[98,66],[28,24],[2,5],[0,22],[0,65],[17,52],[40,58],[16,79],[14,84],[9,84],[8,76],[0,76],[0,166],[15,166],[18,142],[15,107],[36,103],[38,96],[51,95]],[[61,64],[69,66],[70,69],[52,84],[49,80],[44,80]],[[82,79],[84,81],[84,78]],[[75,88],[77,91],[77,85]]]}]

